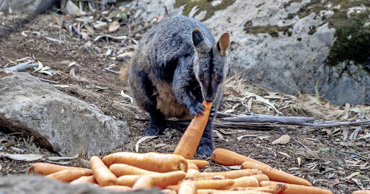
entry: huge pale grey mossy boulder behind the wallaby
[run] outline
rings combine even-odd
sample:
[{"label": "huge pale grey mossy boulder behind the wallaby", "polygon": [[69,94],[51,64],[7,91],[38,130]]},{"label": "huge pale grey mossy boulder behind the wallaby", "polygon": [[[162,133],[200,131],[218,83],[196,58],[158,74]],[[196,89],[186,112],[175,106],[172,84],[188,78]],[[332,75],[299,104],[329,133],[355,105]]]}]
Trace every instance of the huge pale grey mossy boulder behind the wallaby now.
[{"label": "huge pale grey mossy boulder behind the wallaby", "polygon": [[[150,2],[150,3],[149,3]],[[217,40],[229,31],[232,74],[275,92],[313,92],[330,102],[370,102],[369,4],[319,0],[138,0],[135,17],[183,14],[203,21]],[[366,7],[367,6],[367,7]],[[351,38],[356,37],[356,38]],[[366,41],[367,40],[367,41]]]}]

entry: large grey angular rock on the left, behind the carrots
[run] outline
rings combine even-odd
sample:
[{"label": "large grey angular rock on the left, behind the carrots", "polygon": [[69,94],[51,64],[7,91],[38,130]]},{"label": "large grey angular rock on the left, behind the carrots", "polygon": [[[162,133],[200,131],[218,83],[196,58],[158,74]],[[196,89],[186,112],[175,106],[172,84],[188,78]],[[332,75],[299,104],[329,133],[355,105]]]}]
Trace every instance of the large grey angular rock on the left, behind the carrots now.
[{"label": "large grey angular rock on the left, behind the carrots", "polygon": [[25,72],[0,69],[0,130],[33,135],[62,156],[98,154],[125,144],[128,126]]}]

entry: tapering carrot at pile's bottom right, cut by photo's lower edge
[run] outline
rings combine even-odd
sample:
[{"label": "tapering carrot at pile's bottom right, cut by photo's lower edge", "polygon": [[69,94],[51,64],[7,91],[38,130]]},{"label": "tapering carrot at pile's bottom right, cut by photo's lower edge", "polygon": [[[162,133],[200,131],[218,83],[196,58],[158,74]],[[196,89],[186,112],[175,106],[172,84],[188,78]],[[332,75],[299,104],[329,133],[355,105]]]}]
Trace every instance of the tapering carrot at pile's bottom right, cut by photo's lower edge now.
[{"label": "tapering carrot at pile's bottom right, cut by photo's lower edge", "polygon": [[274,184],[283,184],[286,186],[286,189],[279,194],[333,194],[331,191],[324,190],[317,187],[308,187],[297,184],[288,184],[288,183],[279,183],[275,181],[261,181],[261,186],[270,186]]}]

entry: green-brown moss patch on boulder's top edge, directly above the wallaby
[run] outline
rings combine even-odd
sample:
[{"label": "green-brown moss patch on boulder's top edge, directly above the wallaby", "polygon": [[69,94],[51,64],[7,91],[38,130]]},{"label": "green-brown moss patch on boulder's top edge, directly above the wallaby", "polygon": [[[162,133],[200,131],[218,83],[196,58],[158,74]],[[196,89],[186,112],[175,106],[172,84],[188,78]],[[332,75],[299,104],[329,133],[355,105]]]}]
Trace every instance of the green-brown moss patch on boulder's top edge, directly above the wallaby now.
[{"label": "green-brown moss patch on boulder's top edge, directly above the wallaby", "polygon": [[198,10],[195,12],[194,16],[201,13],[201,11],[207,11],[206,16],[202,19],[202,21],[205,21],[211,18],[215,11],[223,10],[226,7],[231,6],[234,2],[235,0],[222,0],[219,5],[212,6],[212,0],[176,0],[175,8],[185,6],[182,14],[184,16],[188,16],[191,9],[195,6],[198,6]]}]

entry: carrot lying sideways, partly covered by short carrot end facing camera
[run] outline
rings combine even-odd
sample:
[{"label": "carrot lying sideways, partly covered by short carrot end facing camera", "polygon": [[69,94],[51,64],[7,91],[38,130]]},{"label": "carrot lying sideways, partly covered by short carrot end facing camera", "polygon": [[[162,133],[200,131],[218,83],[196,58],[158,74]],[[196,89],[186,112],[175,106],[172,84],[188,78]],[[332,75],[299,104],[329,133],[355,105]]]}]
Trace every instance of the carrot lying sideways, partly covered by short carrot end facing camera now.
[{"label": "carrot lying sideways, partly covered by short carrot end facing camera", "polygon": [[152,178],[153,186],[165,188],[172,184],[177,184],[185,178],[184,171],[173,171],[168,173],[145,174],[145,175],[125,175],[118,177],[118,184],[123,186],[132,187],[134,183],[143,176]]}]

